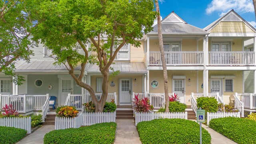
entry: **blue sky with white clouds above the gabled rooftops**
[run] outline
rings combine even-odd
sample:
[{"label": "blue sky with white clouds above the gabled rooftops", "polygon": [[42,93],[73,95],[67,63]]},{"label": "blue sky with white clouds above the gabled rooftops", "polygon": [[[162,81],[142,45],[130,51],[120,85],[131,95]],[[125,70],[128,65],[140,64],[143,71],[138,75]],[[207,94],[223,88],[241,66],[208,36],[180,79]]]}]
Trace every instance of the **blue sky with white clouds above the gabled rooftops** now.
[{"label": "blue sky with white clouds above the gabled rooftops", "polygon": [[158,0],[160,16],[164,19],[174,11],[188,24],[204,28],[234,9],[256,28],[252,0]]}]

